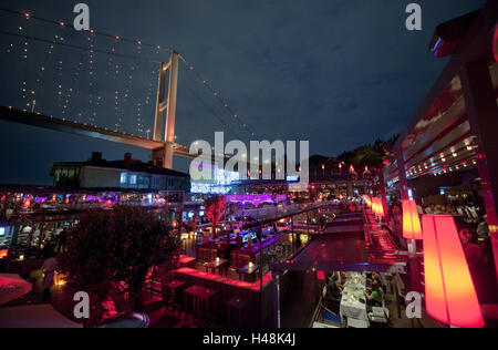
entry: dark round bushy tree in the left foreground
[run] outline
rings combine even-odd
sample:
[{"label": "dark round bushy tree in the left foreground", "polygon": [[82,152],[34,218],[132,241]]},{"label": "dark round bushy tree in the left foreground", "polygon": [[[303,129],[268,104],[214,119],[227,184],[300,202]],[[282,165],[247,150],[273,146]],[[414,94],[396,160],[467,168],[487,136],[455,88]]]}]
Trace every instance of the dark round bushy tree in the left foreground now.
[{"label": "dark round bushy tree in the left foreground", "polygon": [[69,275],[70,287],[102,302],[116,286],[124,286],[132,308],[141,310],[147,272],[172,259],[179,243],[169,223],[147,208],[95,209],[81,217],[60,264]]}]

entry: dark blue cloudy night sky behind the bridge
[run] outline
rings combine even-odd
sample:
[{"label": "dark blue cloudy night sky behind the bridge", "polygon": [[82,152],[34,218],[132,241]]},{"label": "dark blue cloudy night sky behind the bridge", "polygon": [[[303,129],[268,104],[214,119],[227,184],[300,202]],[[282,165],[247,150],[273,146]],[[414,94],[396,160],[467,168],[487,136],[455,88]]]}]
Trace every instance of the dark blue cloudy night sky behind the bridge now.
[{"label": "dark blue cloudy night sky behind the bridge", "polygon": [[[423,31],[415,32],[404,25],[409,2],[415,1],[86,0],[91,27],[97,31],[181,53],[256,131],[258,140],[309,140],[310,155],[329,156],[401,132],[447,62],[428,51],[436,25],[478,9],[485,0],[416,1],[423,8]],[[1,0],[0,8],[72,22],[75,3]],[[63,30],[0,12],[1,30],[15,32],[19,25],[43,39],[53,39]],[[66,42],[87,45],[87,33],[65,30]],[[76,119],[83,111],[84,122],[89,111],[100,109],[97,125],[118,123],[120,130],[135,134],[152,128],[157,64],[118,58],[110,63],[108,55],[96,54],[90,65],[87,52],[58,49],[49,55],[48,45],[37,42],[30,42],[29,56],[22,60],[22,43],[0,34],[0,104],[23,105],[29,99],[22,99],[21,84],[27,81],[32,85],[29,90],[37,90],[37,111],[62,117],[65,99],[58,96],[56,89],[62,85],[65,96],[73,86],[68,119]],[[113,40],[102,38],[93,43],[103,50],[114,45]],[[8,53],[10,44],[17,51]],[[138,54],[133,44],[114,48]],[[139,54],[164,61],[168,56],[148,49]],[[60,61],[64,63],[58,70]],[[79,62],[82,68],[75,75]],[[117,76],[113,75],[114,64],[118,65]],[[33,76],[41,65],[46,71],[35,83]],[[89,87],[91,82],[93,87]],[[121,96],[117,113],[113,111],[115,91]],[[101,96],[101,105],[89,107],[91,94]],[[144,127],[137,122],[138,103]],[[195,140],[211,141],[215,131],[226,131],[227,138],[249,140],[181,65],[177,142],[188,146]],[[0,183],[51,184],[53,162],[85,161],[92,151],[103,152],[107,159],[121,158],[125,152],[143,161],[151,157],[144,150],[0,122]],[[187,164],[175,159],[177,169],[186,171]]]}]

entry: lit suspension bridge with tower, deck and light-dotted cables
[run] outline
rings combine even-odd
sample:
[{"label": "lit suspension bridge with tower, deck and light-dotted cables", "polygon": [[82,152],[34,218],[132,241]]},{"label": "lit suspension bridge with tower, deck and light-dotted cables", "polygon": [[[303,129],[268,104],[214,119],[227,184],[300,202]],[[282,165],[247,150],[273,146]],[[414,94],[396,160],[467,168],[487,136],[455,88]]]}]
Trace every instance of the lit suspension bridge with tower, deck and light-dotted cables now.
[{"label": "lit suspension bridge with tower, deck and light-dotted cables", "polygon": [[[173,168],[174,156],[200,155],[177,142],[180,81],[215,127],[237,138],[239,132],[256,136],[172,48],[94,29],[79,32],[66,21],[29,12],[0,8],[0,120],[151,150],[156,166]],[[180,69],[189,72],[183,80]]]}]

